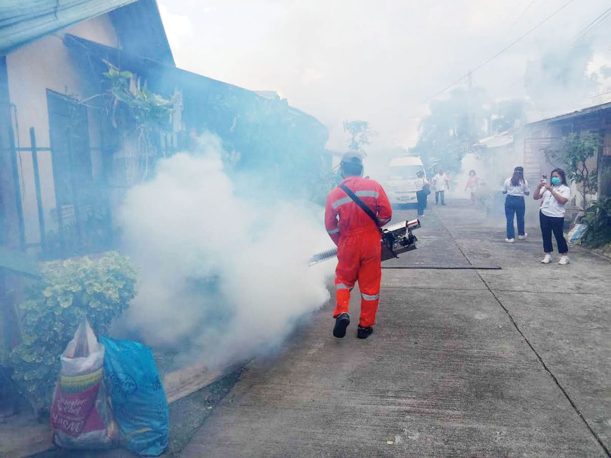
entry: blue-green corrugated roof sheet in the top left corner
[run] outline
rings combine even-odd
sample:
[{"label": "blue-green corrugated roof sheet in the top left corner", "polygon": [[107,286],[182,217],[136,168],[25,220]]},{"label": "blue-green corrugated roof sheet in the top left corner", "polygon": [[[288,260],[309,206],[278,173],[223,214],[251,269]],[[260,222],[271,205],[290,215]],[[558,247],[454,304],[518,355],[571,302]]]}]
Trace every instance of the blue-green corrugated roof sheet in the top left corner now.
[{"label": "blue-green corrugated roof sheet in the top left corner", "polygon": [[0,55],[136,0],[2,0]]}]

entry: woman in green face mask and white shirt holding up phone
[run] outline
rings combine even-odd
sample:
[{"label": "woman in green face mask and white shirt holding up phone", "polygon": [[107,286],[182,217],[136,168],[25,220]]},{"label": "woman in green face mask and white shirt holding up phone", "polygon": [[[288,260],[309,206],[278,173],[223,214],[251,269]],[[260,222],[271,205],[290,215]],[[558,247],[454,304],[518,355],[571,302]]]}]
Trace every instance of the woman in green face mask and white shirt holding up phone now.
[{"label": "woman in green face mask and white shirt holding up phone", "polygon": [[563,233],[565,225],[565,206],[571,198],[571,188],[566,184],[566,173],[562,169],[554,169],[550,174],[550,183],[541,180],[533,198],[543,198],[539,211],[541,223],[541,236],[543,237],[543,251],[545,257],[541,263],[549,264],[552,261],[552,232],[558,244],[560,261],[558,264],[569,263],[569,247]]}]

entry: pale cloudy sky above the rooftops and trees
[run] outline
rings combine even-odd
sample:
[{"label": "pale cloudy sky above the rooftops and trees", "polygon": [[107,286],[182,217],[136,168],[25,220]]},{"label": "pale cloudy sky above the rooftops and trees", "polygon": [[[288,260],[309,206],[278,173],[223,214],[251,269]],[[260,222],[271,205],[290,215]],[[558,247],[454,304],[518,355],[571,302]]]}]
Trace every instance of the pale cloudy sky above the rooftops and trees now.
[{"label": "pale cloudy sky above the rooftops and trees", "polygon": [[[495,100],[531,97],[529,121],[611,101],[609,94],[596,96],[611,92],[611,16],[591,24],[611,1],[158,4],[178,67],[250,90],[275,90],[329,128],[331,149],[346,147],[342,123],[355,119],[370,123],[377,147],[414,145],[433,96],[558,10],[474,71],[473,84]],[[454,87],[466,87],[466,78]]]}]

